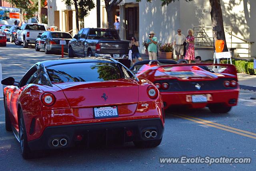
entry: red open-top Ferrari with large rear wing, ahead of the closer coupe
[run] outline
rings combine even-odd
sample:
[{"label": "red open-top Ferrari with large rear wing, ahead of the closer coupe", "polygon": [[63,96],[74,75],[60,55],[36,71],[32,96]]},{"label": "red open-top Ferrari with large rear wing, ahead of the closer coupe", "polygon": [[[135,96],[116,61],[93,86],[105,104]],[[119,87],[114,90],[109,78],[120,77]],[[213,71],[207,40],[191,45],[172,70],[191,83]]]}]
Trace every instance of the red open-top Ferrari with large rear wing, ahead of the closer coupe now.
[{"label": "red open-top Ferrari with large rear wing, ahead of the closer coupe", "polygon": [[[142,61],[130,69],[137,77],[148,79],[156,85],[165,108],[207,106],[213,113],[226,113],[237,105],[239,85],[234,65],[161,65],[158,61]],[[211,71],[207,71],[208,67]]]}]

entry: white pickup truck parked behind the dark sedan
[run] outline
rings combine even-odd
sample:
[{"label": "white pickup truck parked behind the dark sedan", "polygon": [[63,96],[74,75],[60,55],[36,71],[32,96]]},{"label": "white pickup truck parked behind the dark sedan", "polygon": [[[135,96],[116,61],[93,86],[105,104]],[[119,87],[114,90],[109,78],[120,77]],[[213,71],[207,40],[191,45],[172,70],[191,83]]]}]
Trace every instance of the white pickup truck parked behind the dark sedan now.
[{"label": "white pickup truck parked behind the dark sedan", "polygon": [[17,30],[15,44],[21,45],[23,43],[24,48],[28,47],[28,44],[35,44],[37,36],[44,33],[44,31],[46,31],[46,28],[43,24],[22,24],[21,28]]}]

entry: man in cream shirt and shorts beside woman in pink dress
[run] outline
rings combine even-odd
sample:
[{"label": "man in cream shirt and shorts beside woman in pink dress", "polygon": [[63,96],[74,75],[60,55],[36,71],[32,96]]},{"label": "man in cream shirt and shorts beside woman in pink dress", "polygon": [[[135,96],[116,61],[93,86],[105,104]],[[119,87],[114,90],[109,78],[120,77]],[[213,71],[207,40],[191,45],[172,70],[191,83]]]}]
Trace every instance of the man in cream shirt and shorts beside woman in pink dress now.
[{"label": "man in cream shirt and shorts beside woman in pink dress", "polygon": [[184,34],[181,33],[181,29],[177,30],[178,34],[174,35],[174,48],[175,48],[175,53],[177,56],[177,60],[182,59],[182,56],[184,54],[184,45],[183,43],[186,40],[186,37]]}]

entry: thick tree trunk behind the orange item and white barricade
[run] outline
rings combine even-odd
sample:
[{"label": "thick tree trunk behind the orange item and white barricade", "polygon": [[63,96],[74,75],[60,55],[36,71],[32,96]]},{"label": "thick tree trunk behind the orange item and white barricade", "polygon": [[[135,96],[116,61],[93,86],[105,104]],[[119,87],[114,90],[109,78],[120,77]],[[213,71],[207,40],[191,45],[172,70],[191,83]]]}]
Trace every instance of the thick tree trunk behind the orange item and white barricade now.
[{"label": "thick tree trunk behind the orange item and white barricade", "polygon": [[[141,0],[137,0],[137,1],[141,1]],[[147,1],[151,2],[152,0],[147,0]],[[162,6],[164,6],[172,2],[175,2],[177,0],[161,0],[161,1],[162,1]],[[189,2],[193,0],[185,0],[185,1]],[[225,32],[224,32],[224,26],[223,26],[220,0],[209,0],[209,1],[210,1],[210,14],[211,14],[211,20],[212,20],[213,43],[215,45],[216,40],[224,40],[225,46],[223,51],[228,51]]]}]

